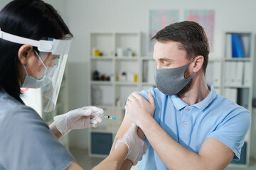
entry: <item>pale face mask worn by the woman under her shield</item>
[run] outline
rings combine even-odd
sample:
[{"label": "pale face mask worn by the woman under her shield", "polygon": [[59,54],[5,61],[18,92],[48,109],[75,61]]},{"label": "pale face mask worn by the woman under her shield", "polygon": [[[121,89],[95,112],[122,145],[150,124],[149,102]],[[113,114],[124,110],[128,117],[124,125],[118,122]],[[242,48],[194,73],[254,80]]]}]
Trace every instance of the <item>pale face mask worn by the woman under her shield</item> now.
[{"label": "pale face mask worn by the woman under her shield", "polygon": [[[36,52],[36,55],[39,57],[39,60],[41,60],[41,57],[38,55],[37,52]],[[41,60],[41,62],[43,63],[43,60]],[[42,79],[36,79],[34,77],[28,76],[26,67],[24,65],[23,65],[23,67],[26,72],[26,77],[25,77],[24,82],[21,87],[38,89],[38,88],[46,86],[47,84],[50,83],[50,81],[53,78],[53,74],[55,72],[57,65],[55,65],[54,67],[46,67],[46,65],[43,63],[43,67],[46,68],[46,71],[45,71],[45,74]]]}]

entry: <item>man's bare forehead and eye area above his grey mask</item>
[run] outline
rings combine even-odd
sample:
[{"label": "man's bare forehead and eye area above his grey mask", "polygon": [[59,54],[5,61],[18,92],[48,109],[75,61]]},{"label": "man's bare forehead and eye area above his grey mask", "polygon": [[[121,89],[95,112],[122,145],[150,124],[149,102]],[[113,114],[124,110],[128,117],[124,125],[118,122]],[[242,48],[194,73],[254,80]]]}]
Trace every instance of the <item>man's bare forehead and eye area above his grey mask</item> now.
[{"label": "man's bare forehead and eye area above his grey mask", "polygon": [[175,61],[187,60],[186,51],[181,50],[181,44],[175,41],[156,41],[154,45],[154,60]]}]

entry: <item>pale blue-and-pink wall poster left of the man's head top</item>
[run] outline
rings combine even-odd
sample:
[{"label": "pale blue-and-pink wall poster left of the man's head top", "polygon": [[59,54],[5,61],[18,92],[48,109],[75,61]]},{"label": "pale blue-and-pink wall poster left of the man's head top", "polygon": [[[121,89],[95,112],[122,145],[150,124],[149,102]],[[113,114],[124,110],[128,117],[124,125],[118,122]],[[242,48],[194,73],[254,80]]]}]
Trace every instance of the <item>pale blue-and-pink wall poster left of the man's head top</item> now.
[{"label": "pale blue-and-pink wall poster left of the man's head top", "polygon": [[178,22],[178,10],[151,10],[149,14],[149,52],[154,50],[154,40],[150,40],[162,28]]}]

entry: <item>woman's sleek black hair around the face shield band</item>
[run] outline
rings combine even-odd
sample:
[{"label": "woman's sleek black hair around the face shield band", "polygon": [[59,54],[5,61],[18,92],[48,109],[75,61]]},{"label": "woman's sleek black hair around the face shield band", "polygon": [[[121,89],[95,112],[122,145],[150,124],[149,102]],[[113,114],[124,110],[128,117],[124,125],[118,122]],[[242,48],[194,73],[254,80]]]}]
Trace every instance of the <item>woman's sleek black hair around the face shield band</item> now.
[{"label": "woman's sleek black hair around the face shield band", "polygon": [[[41,0],[11,1],[0,12],[0,28],[6,33],[33,40],[73,36],[55,8]],[[6,91],[23,103],[18,84],[20,47],[21,44],[0,38],[0,91]]]}]

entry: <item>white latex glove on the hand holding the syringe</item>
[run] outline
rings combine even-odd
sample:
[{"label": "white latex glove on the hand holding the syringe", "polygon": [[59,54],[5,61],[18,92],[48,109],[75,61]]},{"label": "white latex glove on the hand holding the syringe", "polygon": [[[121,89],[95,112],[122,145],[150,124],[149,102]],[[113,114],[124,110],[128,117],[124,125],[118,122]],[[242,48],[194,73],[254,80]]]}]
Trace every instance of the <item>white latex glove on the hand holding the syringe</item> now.
[{"label": "white latex glove on the hand holding the syringe", "polygon": [[57,115],[53,119],[55,121],[56,128],[62,135],[68,134],[73,129],[83,129],[90,127],[97,127],[97,123],[102,121],[102,118],[95,116],[103,114],[102,108],[95,106],[87,106],[78,108],[73,111],[69,111],[63,115]]}]

